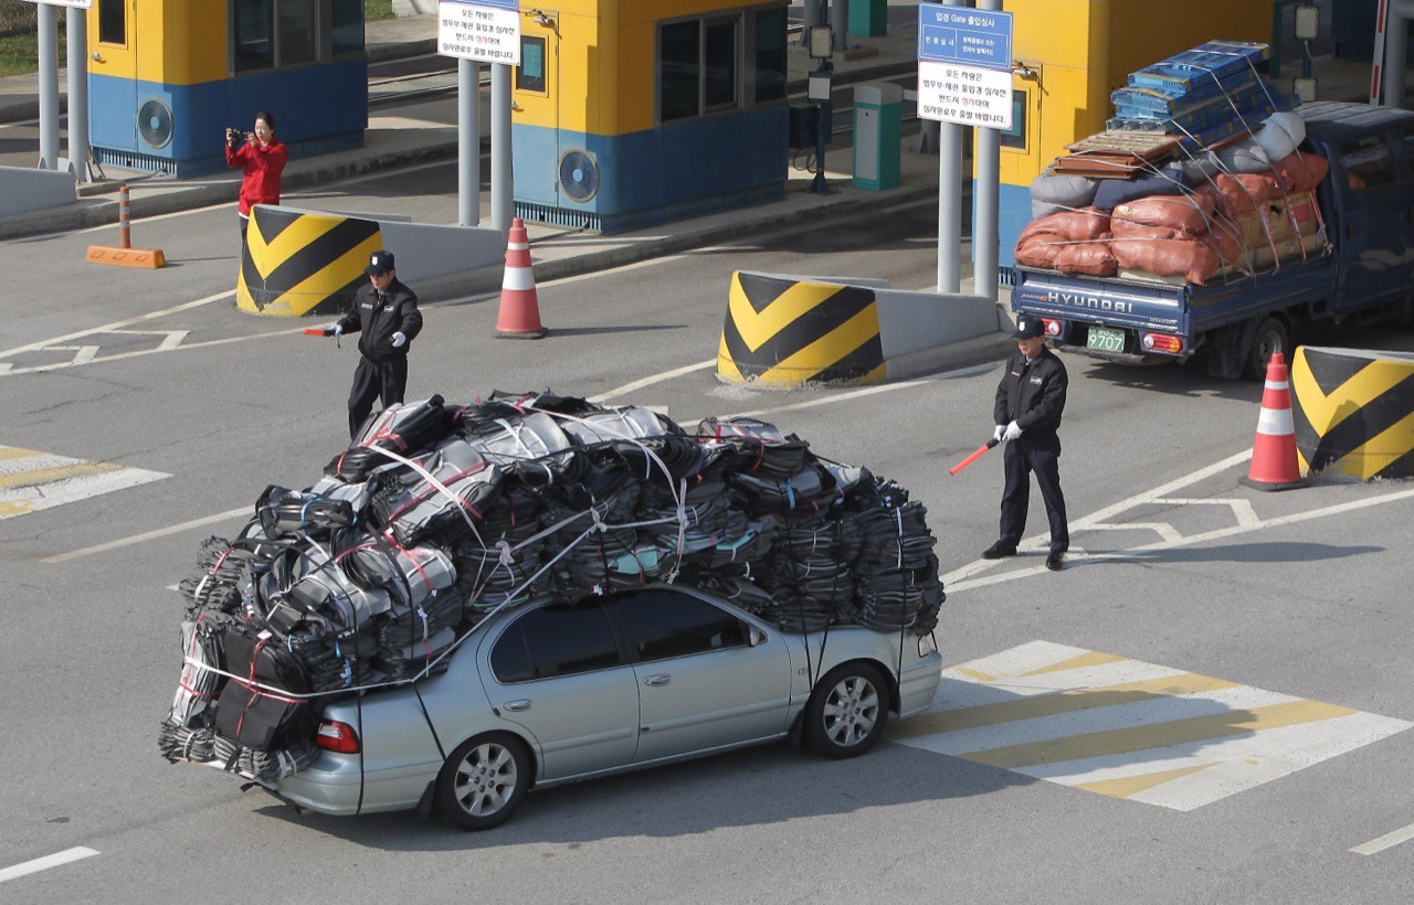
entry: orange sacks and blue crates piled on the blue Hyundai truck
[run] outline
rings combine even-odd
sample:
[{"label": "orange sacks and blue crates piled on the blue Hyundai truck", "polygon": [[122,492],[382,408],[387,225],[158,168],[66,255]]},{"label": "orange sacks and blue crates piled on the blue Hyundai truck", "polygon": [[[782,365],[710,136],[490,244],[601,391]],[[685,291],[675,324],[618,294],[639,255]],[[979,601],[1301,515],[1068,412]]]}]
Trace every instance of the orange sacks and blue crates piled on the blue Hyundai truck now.
[{"label": "orange sacks and blue crates piled on the blue Hyundai truck", "polygon": [[1325,254],[1314,189],[1325,158],[1258,73],[1266,44],[1209,41],[1133,72],[1107,131],[1031,182],[1017,263],[1205,285]]}]

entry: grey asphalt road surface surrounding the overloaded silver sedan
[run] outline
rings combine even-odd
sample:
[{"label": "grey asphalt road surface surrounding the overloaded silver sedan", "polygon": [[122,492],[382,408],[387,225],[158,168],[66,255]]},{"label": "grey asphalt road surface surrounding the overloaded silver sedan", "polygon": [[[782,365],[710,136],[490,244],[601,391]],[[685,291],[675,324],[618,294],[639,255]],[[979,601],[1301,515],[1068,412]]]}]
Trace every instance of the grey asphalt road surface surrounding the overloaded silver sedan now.
[{"label": "grey asphalt road surface surrounding the overloaded silver sedan", "polygon": [[[324,193],[342,209],[447,222],[452,172]],[[1414,733],[1403,731],[1414,720],[1414,487],[1246,489],[1260,387],[1066,356],[1075,539],[1056,575],[1034,545],[977,559],[995,538],[1000,453],[947,474],[990,435],[998,367],[868,390],[715,381],[732,270],[926,288],[935,217],[925,203],[543,284],[551,333],[539,342],[492,339],[495,299],[431,306],[409,398],[550,387],[666,407],[689,425],[749,412],[898,480],[939,538],[945,662],[970,664],[947,673],[942,707],[976,696],[978,675],[1041,688],[1036,676],[1083,666],[1060,685],[1073,696],[1090,686],[1086,671],[1167,669],[1247,695],[1225,710],[1243,714],[1227,733],[1240,741],[1267,737],[1243,730],[1271,703],[1251,703],[1258,692],[1372,714],[1379,731],[1319,740],[1292,726],[1275,753],[1213,754],[1212,769],[1182,758],[1226,751],[1222,733],[1189,740],[1174,769],[1223,778],[1185,779],[1151,803],[1104,785],[1133,772],[1137,755],[1114,733],[1144,713],[1092,727],[1086,738],[1113,741],[1089,750],[1093,782],[1059,775],[1045,754],[1000,767],[957,754],[976,745],[925,716],[858,761],[744,751],[547,791],[475,836],[413,815],[297,816],[216,771],[168,765],[156,736],[180,671],[171,587],[204,537],[239,528],[229,513],[267,484],[312,483],[342,449],[356,361],[351,343],[300,335],[303,322],[235,311],[222,206],[141,223],[134,244],[163,247],[164,271],[85,264],[95,234],[0,246],[11,277],[0,445],[165,474],[0,518],[0,899],[1404,901],[1414,844],[1369,843],[1414,823]],[[1408,332],[1339,339],[1414,347]],[[1001,720],[969,713],[973,731]],[[1045,724],[1015,727],[1012,741],[1062,747]],[[66,863],[35,864],[47,856]]]}]

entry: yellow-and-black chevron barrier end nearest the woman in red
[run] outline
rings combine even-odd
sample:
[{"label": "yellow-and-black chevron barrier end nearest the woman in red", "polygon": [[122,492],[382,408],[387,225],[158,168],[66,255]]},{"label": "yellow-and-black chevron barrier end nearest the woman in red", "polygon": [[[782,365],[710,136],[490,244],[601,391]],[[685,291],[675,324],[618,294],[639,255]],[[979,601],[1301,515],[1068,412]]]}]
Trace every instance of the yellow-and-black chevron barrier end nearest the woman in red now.
[{"label": "yellow-and-black chevron barrier end nearest the woman in red", "polygon": [[376,220],[256,208],[240,256],[236,308],[260,315],[341,313],[382,247]]}]

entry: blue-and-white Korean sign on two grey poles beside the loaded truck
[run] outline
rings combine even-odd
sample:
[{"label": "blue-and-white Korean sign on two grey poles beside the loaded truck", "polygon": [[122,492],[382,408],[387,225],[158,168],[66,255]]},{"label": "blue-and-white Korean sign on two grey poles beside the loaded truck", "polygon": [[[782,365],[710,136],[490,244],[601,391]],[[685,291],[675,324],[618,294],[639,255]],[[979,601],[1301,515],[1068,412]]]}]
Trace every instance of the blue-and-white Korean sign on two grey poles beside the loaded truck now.
[{"label": "blue-and-white Korean sign on two grey poles beside the loaded truck", "polygon": [[937,291],[960,288],[962,133],[978,127],[976,216],[973,217],[974,291],[997,298],[997,205],[1001,192],[998,130],[1011,128],[1011,13],[1000,0],[918,4],[918,116],[937,120]]}]

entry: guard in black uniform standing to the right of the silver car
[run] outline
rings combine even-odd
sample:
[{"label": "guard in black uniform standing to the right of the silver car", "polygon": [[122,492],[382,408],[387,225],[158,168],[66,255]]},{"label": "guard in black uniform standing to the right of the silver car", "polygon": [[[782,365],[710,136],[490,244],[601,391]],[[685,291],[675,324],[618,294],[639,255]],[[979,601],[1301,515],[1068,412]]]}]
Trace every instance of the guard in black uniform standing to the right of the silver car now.
[{"label": "guard in black uniform standing to the right of the silver car", "polygon": [[1007,370],[997,385],[993,421],[994,438],[1007,443],[1007,489],[1001,493],[1001,538],[983,552],[983,559],[1015,556],[1017,544],[1027,529],[1027,504],[1031,498],[1029,473],[1035,473],[1041,498],[1051,520],[1051,553],[1046,568],[1059,572],[1070,546],[1070,528],[1065,518],[1065,494],[1060,493],[1060,412],[1069,380],[1065,364],[1046,349],[1039,318],[1017,319],[1017,354],[1007,360]]}]

